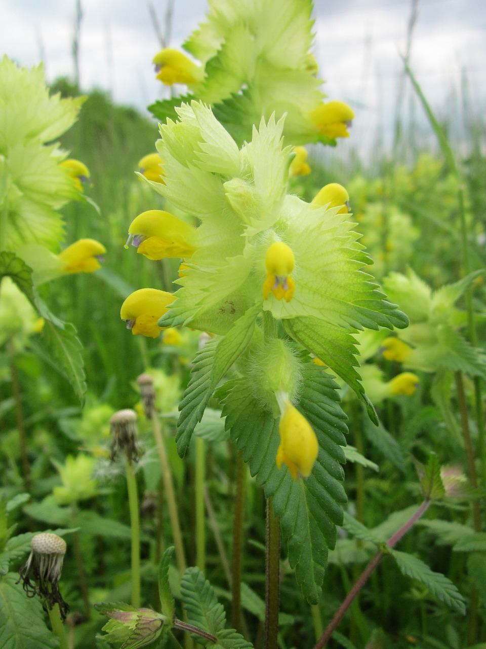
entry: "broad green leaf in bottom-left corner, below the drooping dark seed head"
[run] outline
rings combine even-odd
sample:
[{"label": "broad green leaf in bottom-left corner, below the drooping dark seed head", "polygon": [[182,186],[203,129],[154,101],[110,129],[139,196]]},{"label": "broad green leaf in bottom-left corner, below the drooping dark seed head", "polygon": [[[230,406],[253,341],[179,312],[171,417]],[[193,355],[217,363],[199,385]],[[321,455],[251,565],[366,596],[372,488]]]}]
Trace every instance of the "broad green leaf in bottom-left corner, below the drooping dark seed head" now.
[{"label": "broad green leaf in bottom-left corner, below the drooping dark seed head", "polygon": [[58,639],[45,625],[40,600],[27,599],[17,580],[17,574],[0,576],[0,646],[55,649]]}]

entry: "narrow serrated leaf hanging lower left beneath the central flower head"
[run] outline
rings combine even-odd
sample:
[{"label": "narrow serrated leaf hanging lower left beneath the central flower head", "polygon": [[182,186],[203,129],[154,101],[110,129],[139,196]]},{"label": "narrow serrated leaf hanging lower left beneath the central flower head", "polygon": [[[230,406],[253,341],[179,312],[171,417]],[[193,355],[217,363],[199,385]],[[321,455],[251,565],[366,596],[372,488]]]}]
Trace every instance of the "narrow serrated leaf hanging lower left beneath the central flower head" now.
[{"label": "narrow serrated leaf hanging lower left beneath the central flower head", "polygon": [[201,421],[207,402],[213,394],[211,368],[213,367],[214,353],[218,342],[217,339],[210,340],[194,357],[191,380],[179,404],[181,413],[177,422],[176,442],[178,454],[181,458],[184,457],[194,427]]}]

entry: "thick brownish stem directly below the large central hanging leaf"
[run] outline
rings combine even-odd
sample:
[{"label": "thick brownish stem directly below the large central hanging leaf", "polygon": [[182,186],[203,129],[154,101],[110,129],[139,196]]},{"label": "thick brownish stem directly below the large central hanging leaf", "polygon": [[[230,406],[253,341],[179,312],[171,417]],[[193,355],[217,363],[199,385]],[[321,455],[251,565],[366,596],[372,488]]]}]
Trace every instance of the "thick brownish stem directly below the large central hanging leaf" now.
[{"label": "thick brownish stem directly below the large central hanging leaf", "polygon": [[265,649],[277,649],[280,595],[280,519],[273,515],[272,498],[266,501]]}]

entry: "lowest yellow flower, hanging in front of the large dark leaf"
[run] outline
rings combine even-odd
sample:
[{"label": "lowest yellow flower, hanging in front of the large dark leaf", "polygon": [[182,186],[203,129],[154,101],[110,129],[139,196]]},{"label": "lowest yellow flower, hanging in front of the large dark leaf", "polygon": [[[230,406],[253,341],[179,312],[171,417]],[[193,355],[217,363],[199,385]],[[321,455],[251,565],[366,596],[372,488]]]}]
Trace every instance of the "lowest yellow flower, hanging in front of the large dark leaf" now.
[{"label": "lowest yellow flower, hanging in front of the large dark leaf", "polygon": [[290,401],[286,401],[279,424],[280,445],[277,450],[277,467],[286,464],[297,480],[308,478],[318,458],[319,443],[312,426]]}]

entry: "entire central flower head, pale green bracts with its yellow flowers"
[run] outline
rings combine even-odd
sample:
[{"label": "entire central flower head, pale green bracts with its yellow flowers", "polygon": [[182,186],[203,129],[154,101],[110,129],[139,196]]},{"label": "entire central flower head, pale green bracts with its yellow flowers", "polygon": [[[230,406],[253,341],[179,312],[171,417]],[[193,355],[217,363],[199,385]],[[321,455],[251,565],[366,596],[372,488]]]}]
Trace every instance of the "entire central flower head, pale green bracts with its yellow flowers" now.
[{"label": "entire central flower head, pale green bracts with its yellow flowers", "polygon": [[[343,335],[363,327],[406,324],[404,315],[360,271],[369,258],[347,221],[346,191],[329,186],[312,203],[286,193],[292,147],[283,146],[283,119],[262,119],[252,140],[238,149],[207,106],[192,102],[177,112],[179,121],[161,126],[156,145],[163,183],[146,182],[191,215],[191,221],[149,210],[134,219],[127,243],[152,260],[179,257],[176,284],[181,288],[173,295],[157,289],[135,291],[122,306],[122,319],[133,334],[158,336],[163,327],[187,324],[231,338],[266,314],[346,380],[353,371],[354,341],[344,338],[349,340],[345,349]],[[278,335],[277,343],[282,343]],[[336,347],[340,353],[328,358],[326,349]],[[253,345],[254,354],[256,349],[270,358],[267,374],[275,378],[279,364],[283,371],[271,388],[268,378],[257,378],[255,390],[270,395],[268,407],[274,411],[277,395],[289,395],[290,405],[284,404],[281,413],[283,422],[292,422],[281,428],[279,462],[294,476],[307,475],[307,461],[295,456],[285,432],[306,430],[292,410],[298,379],[290,385],[284,378],[294,362],[292,353],[286,345],[273,345],[268,336]],[[249,360],[247,366],[251,364]],[[315,459],[312,435],[306,439],[305,456]],[[309,459],[310,467],[314,459]]]}]

